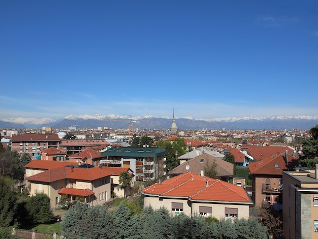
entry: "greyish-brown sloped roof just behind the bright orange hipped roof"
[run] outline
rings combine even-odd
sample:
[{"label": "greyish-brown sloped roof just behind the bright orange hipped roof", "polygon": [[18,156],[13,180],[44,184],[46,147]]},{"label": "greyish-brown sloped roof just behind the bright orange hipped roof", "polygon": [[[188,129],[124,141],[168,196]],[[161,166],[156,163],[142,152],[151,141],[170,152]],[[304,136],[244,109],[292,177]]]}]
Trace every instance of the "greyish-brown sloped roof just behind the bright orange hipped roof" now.
[{"label": "greyish-brown sloped roof just behind the bright orange hipped roof", "polygon": [[178,165],[170,171],[171,174],[182,174],[187,172],[185,166],[189,165],[189,171],[196,174],[200,174],[201,170],[207,166],[207,164],[212,165],[213,162],[216,163],[216,171],[218,176],[233,176],[234,165],[225,160],[216,158],[209,154],[201,154],[193,159],[189,159],[187,162]]}]

